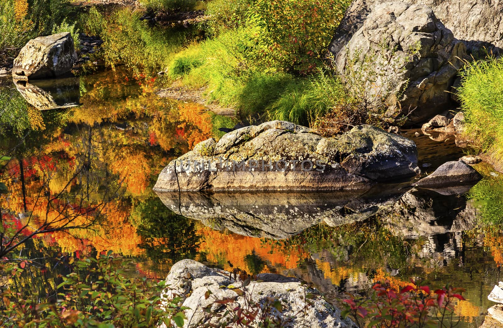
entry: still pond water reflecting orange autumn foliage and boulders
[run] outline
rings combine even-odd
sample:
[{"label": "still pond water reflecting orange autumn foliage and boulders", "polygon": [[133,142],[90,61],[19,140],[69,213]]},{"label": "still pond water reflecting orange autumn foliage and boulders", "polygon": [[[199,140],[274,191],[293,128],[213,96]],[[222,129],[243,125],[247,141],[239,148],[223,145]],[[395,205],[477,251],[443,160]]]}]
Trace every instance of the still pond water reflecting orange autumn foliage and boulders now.
[{"label": "still pond water reflecting orange autumn foliage and boulders", "polygon": [[[118,68],[59,82],[0,81],[0,115],[11,120],[0,155],[13,158],[0,175],[10,191],[2,210],[20,227],[33,218],[24,234],[58,215],[63,199],[81,220],[99,204],[103,223],[37,236],[22,254],[45,250],[63,260],[21,278],[4,272],[4,282],[49,293],[69,270],[65,258],[113,251],[133,259],[132,275],[164,278],[191,258],[295,276],[330,299],[366,293],[385,277],[400,286],[411,277],[451,283],[466,289],[456,305],[463,327],[480,325],[492,305],[486,297],[503,280],[503,183],[490,167],[478,167],[486,177],[462,195],[409,190],[409,183],[367,192],[156,195],[160,170],[215,136],[214,117],[201,105],[154,95],[157,76]],[[463,155],[452,140],[406,133],[424,173]]]}]

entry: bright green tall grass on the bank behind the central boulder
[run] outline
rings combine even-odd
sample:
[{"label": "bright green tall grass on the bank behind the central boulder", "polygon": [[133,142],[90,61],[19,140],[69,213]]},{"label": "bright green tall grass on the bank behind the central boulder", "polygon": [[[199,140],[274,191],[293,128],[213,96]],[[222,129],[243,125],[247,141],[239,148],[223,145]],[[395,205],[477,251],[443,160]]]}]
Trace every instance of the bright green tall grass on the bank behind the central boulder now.
[{"label": "bright green tall grass on the bank behind the central boulder", "polygon": [[245,118],[309,125],[346,96],[337,77],[321,71],[307,77],[264,72],[246,57],[246,37],[247,31],[233,30],[193,45],[175,55],[169,74],[189,87],[207,86],[208,101]]}]

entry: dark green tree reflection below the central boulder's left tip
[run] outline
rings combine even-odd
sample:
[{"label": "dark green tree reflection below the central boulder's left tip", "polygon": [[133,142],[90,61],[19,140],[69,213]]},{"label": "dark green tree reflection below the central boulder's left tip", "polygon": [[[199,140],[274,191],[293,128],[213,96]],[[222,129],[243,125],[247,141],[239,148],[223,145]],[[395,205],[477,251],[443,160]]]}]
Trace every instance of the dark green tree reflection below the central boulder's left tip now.
[{"label": "dark green tree reflection below the central boulder's left tip", "polygon": [[155,262],[194,259],[201,237],[195,222],[168,209],[158,197],[149,198],[134,208],[132,224],[145,241],[139,245]]}]

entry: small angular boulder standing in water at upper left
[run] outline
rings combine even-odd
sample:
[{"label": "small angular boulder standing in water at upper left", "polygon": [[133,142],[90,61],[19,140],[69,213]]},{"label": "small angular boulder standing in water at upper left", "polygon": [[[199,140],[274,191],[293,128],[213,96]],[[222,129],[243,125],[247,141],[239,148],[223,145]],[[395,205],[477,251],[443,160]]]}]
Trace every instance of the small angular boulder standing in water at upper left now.
[{"label": "small angular boulder standing in water at upper left", "polygon": [[16,79],[61,76],[78,60],[70,33],[58,33],[28,41],[14,59],[12,75]]}]

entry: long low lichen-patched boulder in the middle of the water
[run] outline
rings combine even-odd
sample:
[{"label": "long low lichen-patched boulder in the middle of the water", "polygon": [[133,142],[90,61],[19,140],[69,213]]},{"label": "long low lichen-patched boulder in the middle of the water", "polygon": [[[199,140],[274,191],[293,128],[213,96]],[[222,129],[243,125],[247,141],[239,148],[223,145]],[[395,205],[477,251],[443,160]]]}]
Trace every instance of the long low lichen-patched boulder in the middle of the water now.
[{"label": "long low lichen-patched boulder in the middle of the water", "polygon": [[208,139],[171,161],[156,191],[369,188],[416,175],[415,144],[364,125],[333,138],[285,121]]}]

